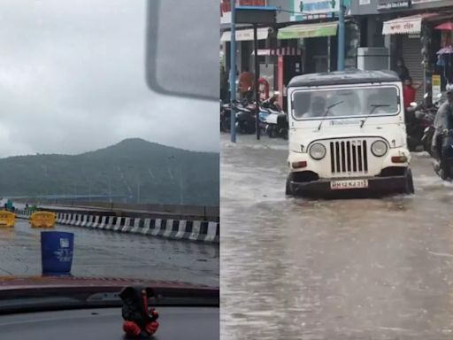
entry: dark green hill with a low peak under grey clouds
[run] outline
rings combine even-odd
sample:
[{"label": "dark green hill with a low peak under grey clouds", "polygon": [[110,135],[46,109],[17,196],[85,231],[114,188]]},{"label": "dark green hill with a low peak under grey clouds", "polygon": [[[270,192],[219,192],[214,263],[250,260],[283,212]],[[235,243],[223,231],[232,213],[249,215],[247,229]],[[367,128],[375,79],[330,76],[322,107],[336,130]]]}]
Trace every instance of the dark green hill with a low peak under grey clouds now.
[{"label": "dark green hill with a low peak under grey clouds", "polygon": [[127,139],[80,155],[0,159],[0,194],[121,195],[128,202],[219,205],[219,154]]}]

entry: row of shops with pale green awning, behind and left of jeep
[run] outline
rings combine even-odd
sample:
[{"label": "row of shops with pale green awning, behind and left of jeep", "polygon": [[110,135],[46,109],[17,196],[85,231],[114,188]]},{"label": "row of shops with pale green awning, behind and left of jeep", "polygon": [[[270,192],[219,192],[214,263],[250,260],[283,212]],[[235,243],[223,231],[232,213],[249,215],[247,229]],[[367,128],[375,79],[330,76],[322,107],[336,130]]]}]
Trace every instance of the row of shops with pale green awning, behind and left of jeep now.
[{"label": "row of shops with pale green awning, behind and left of jeep", "polygon": [[[239,0],[237,4],[244,5]],[[279,90],[280,103],[285,106],[285,86],[292,77],[303,73],[336,70],[339,1],[267,0],[253,5],[268,5],[279,9],[275,27],[258,28],[258,61],[260,76],[269,81],[271,91]],[[355,67],[358,26],[349,16],[349,0],[345,0],[345,5],[348,16],[345,64]],[[229,6],[225,5],[222,9],[226,11]],[[220,42],[228,66],[230,21],[228,14],[222,14],[222,17]],[[238,73],[246,68],[254,70],[253,30],[236,26],[236,41]]]}]

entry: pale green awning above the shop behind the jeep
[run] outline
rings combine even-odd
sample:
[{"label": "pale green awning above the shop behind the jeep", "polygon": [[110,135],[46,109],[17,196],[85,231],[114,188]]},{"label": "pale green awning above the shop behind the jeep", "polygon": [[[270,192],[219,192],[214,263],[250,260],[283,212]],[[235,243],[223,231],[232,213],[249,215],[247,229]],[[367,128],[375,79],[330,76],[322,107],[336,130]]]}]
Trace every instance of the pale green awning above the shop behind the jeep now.
[{"label": "pale green awning above the shop behind the jeep", "polygon": [[321,22],[318,24],[293,25],[280,28],[277,38],[283,40],[332,36],[336,35],[337,27],[337,21]]}]

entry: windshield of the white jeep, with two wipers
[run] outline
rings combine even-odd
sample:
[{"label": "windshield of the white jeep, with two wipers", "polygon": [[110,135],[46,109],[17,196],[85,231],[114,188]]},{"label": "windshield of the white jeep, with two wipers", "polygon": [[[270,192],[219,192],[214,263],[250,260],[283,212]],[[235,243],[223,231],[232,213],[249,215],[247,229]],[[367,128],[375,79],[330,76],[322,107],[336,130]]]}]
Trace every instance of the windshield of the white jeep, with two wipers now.
[{"label": "windshield of the white jeep, with two wipers", "polygon": [[395,87],[296,91],[293,114],[298,120],[395,114],[398,98]]}]

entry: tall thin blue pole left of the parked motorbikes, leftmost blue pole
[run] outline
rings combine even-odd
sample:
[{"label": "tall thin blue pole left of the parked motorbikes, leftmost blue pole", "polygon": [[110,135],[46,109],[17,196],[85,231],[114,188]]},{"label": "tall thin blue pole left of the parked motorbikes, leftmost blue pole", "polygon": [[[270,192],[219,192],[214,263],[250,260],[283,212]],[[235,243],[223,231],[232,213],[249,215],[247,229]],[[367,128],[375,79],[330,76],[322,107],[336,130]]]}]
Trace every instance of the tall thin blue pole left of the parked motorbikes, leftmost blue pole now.
[{"label": "tall thin blue pole left of the parked motorbikes, leftmost blue pole", "polygon": [[236,143],[236,1],[230,0],[231,4],[231,39],[230,39],[230,133],[231,142]]}]

